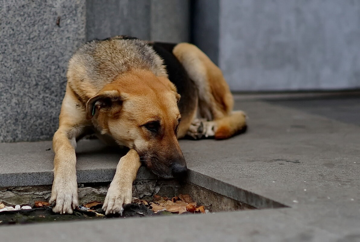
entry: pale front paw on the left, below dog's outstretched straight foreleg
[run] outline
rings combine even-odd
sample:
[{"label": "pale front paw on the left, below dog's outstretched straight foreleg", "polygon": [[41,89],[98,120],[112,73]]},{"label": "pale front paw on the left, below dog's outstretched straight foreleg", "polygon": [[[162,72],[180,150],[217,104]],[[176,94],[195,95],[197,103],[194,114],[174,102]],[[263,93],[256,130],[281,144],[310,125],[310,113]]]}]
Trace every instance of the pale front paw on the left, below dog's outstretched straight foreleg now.
[{"label": "pale front paw on the left, below dog's outstretched straight foreleg", "polygon": [[55,179],[49,203],[53,205],[53,211],[56,213],[72,214],[78,206],[76,178],[75,181]]}]

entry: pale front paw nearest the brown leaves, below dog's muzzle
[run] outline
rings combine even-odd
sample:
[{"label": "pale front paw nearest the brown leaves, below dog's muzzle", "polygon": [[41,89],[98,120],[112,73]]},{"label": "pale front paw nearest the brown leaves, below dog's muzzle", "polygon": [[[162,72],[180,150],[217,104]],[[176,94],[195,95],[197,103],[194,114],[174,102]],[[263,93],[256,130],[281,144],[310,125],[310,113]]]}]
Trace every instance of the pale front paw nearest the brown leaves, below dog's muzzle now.
[{"label": "pale front paw nearest the brown leaves, below dog's muzzle", "polygon": [[116,213],[122,215],[122,205],[131,203],[131,199],[132,184],[124,185],[112,181],[105,197],[103,210],[106,215]]}]

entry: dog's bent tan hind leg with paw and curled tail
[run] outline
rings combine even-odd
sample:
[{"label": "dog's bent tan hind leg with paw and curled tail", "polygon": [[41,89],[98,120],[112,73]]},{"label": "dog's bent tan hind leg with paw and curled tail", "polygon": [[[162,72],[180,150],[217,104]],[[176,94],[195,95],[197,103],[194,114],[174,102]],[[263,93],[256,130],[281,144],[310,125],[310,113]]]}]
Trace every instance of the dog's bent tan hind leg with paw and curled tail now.
[{"label": "dog's bent tan hind leg with paw and curled tail", "polygon": [[187,134],[195,139],[211,136],[226,139],[244,130],[246,115],[233,111],[233,96],[220,68],[192,44],[180,43],[173,53],[199,92],[198,109],[202,119],[195,118]]}]

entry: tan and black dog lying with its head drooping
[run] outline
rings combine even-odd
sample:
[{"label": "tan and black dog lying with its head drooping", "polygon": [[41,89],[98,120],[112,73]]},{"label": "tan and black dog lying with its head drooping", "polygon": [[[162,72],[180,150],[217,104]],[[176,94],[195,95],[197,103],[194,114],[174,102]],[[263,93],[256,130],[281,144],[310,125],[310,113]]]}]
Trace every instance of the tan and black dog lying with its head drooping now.
[{"label": "tan and black dog lying with its head drooping", "polygon": [[181,178],[187,167],[179,138],[227,139],[244,130],[246,115],[233,102],[221,70],[195,45],[129,36],[86,42],[69,60],[53,137],[53,211],[78,206],[75,148],[89,128],[129,148],[103,205],[105,214],[119,213],[131,202],[141,162],[158,176]]}]

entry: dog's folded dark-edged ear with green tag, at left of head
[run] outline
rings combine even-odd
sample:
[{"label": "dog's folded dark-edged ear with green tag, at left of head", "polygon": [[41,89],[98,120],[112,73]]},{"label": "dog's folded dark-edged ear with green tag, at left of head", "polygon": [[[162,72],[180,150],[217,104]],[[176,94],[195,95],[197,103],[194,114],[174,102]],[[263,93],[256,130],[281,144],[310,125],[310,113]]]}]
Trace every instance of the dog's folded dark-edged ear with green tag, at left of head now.
[{"label": "dog's folded dark-edged ear with green tag, at left of head", "polygon": [[123,97],[118,90],[103,91],[90,98],[86,103],[86,119],[91,119],[96,110],[109,111],[111,114],[121,109]]}]

